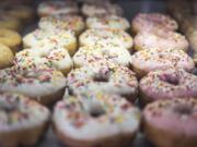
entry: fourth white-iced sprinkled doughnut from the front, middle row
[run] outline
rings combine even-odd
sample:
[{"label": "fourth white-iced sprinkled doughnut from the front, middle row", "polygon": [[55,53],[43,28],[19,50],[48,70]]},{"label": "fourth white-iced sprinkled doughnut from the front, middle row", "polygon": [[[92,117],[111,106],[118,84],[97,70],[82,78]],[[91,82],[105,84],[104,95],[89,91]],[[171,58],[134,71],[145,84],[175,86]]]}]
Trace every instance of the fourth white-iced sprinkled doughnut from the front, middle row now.
[{"label": "fourth white-iced sprinkled doughnut from the front, middle row", "polygon": [[118,46],[128,50],[132,48],[132,38],[120,29],[88,29],[81,34],[80,46]]}]

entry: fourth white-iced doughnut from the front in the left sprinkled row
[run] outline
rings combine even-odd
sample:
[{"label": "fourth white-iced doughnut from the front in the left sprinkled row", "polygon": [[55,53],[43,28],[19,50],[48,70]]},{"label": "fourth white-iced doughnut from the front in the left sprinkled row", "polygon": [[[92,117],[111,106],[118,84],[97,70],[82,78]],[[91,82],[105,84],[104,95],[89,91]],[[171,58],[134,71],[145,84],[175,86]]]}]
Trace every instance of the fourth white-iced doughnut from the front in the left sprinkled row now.
[{"label": "fourth white-iced doughnut from the front in the left sprinkled row", "polygon": [[71,56],[77,49],[77,38],[71,30],[63,29],[35,29],[23,38],[24,48],[63,47]]}]

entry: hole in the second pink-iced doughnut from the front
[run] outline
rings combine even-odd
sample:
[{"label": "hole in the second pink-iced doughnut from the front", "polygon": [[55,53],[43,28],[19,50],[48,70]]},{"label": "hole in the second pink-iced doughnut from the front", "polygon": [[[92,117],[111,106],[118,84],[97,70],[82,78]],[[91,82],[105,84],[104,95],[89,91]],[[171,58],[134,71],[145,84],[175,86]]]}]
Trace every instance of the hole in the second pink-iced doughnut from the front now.
[{"label": "hole in the second pink-iced doughnut from the front", "polygon": [[174,75],[164,74],[160,76],[160,79],[174,86],[179,85],[179,78]]}]

